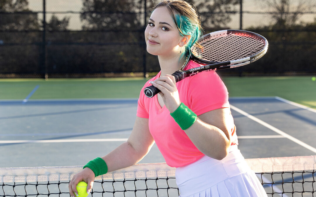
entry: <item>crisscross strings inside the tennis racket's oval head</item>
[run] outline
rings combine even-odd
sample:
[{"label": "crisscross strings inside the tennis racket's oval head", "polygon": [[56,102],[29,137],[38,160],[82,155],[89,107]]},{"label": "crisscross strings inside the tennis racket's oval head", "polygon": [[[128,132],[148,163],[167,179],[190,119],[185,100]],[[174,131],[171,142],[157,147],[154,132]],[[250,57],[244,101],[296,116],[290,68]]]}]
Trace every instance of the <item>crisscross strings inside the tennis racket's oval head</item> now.
[{"label": "crisscross strings inside the tennis racket's oval head", "polygon": [[192,53],[199,59],[213,62],[233,61],[255,55],[264,49],[265,43],[245,33],[219,34],[202,40],[202,49],[192,48]]}]

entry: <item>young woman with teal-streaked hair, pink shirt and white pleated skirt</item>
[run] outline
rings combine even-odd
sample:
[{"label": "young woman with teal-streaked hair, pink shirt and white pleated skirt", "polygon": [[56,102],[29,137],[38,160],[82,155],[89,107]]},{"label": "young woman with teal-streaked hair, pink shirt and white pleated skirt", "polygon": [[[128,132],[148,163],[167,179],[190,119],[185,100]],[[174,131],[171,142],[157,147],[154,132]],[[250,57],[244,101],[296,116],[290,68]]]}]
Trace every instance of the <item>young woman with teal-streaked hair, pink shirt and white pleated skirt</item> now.
[{"label": "young woman with teal-streaked hair, pink shirt and white pleated skirt", "polygon": [[[196,10],[182,0],[157,4],[145,30],[147,51],[157,55],[161,71],[140,93],[137,117],[127,142],[102,158],[96,158],[70,181],[76,184],[139,162],[155,142],[166,163],[176,167],[180,196],[267,196],[237,148],[228,92],[216,72],[201,72],[175,83],[171,75],[185,62],[201,36]],[[190,62],[185,70],[199,67]],[[143,94],[154,85],[161,92]],[[209,85],[212,84],[212,85]]]}]

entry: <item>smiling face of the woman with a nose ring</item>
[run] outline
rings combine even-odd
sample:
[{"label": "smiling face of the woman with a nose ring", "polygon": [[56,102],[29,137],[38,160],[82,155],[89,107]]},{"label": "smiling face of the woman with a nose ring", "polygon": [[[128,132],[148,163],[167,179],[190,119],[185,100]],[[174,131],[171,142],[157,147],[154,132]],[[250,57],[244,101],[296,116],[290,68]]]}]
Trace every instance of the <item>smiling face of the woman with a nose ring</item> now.
[{"label": "smiling face of the woman with a nose ring", "polygon": [[167,8],[156,8],[145,30],[147,51],[152,55],[179,55],[179,43],[182,39]]}]

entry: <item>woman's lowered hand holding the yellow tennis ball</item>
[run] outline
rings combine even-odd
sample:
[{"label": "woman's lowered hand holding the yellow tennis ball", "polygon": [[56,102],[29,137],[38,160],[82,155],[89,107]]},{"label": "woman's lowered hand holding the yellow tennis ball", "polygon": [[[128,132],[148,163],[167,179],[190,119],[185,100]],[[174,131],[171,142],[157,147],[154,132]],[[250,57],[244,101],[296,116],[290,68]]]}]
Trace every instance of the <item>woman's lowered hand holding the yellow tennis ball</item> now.
[{"label": "woman's lowered hand holding the yellow tennis ball", "polygon": [[77,184],[81,181],[88,184],[87,193],[89,194],[93,186],[94,178],[94,172],[90,168],[84,168],[82,171],[75,174],[68,185],[70,195],[72,197],[76,197],[78,195]]}]

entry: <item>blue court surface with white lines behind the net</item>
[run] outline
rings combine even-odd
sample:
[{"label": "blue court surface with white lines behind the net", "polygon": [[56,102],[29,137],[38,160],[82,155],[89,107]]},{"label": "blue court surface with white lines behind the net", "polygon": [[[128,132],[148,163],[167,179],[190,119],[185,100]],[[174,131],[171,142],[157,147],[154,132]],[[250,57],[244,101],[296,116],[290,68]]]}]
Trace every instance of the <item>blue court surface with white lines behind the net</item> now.
[{"label": "blue court surface with white lines behind the net", "polygon": [[[316,110],[279,97],[233,97],[245,158],[316,154]],[[137,99],[0,101],[0,167],[84,165],[126,141]],[[164,162],[156,145],[140,163]]]}]

